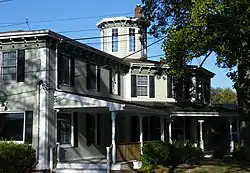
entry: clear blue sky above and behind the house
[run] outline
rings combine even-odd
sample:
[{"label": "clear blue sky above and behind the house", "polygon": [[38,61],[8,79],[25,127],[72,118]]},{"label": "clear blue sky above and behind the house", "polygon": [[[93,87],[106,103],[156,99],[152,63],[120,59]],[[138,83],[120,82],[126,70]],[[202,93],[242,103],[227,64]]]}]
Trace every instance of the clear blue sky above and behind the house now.
[{"label": "clear blue sky above and behind the house", "polygon": [[[56,32],[85,30],[62,33],[72,38],[99,36],[96,28],[98,21],[104,17],[132,16],[136,4],[140,3],[140,0],[13,0],[0,3],[0,31],[27,30],[25,20],[28,19],[30,29],[51,29]],[[16,25],[6,26],[12,24]],[[148,43],[153,41],[155,39],[149,36]],[[99,39],[85,41],[96,48],[99,48],[99,42]],[[149,57],[162,53],[160,43],[148,49]],[[199,61],[194,60],[194,63]],[[232,82],[226,77],[226,70],[214,64],[215,57],[212,56],[203,66],[216,74],[212,86],[232,87]]]}]

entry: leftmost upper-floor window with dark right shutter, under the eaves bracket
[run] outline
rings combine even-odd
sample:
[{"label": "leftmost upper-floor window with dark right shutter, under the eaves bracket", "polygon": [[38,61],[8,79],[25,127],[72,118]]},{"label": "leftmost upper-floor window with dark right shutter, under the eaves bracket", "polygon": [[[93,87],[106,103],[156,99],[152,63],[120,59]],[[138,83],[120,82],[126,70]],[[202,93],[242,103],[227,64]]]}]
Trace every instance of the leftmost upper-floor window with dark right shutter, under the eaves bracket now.
[{"label": "leftmost upper-floor window with dark right shutter, under the eaves bracket", "polygon": [[2,81],[24,82],[25,50],[3,52],[0,55]]}]

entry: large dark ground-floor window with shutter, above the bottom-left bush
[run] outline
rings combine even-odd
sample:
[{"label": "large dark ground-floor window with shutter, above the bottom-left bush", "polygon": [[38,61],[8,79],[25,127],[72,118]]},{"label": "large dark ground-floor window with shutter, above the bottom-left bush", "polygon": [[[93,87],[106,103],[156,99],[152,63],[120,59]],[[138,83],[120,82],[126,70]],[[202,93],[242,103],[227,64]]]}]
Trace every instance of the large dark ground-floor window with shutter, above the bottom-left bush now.
[{"label": "large dark ground-floor window with shutter, above the bottom-left bush", "polygon": [[0,113],[0,140],[32,143],[33,112]]}]

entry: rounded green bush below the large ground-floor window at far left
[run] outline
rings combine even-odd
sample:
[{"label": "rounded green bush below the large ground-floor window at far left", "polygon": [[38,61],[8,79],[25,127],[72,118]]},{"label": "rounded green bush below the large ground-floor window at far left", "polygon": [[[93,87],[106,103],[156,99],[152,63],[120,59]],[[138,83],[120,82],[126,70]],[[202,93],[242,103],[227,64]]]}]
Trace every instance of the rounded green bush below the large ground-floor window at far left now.
[{"label": "rounded green bush below the large ground-floor window at far left", "polygon": [[0,142],[0,173],[27,173],[35,161],[35,150],[30,145]]}]

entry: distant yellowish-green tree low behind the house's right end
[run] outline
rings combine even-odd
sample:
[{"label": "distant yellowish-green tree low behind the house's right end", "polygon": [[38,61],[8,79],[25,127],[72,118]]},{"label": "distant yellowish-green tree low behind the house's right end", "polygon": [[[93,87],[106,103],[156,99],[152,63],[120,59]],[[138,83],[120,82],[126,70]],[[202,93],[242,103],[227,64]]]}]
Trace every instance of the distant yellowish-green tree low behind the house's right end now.
[{"label": "distant yellowish-green tree low behind the house's right end", "polygon": [[230,88],[211,88],[212,104],[237,104],[237,94]]}]

